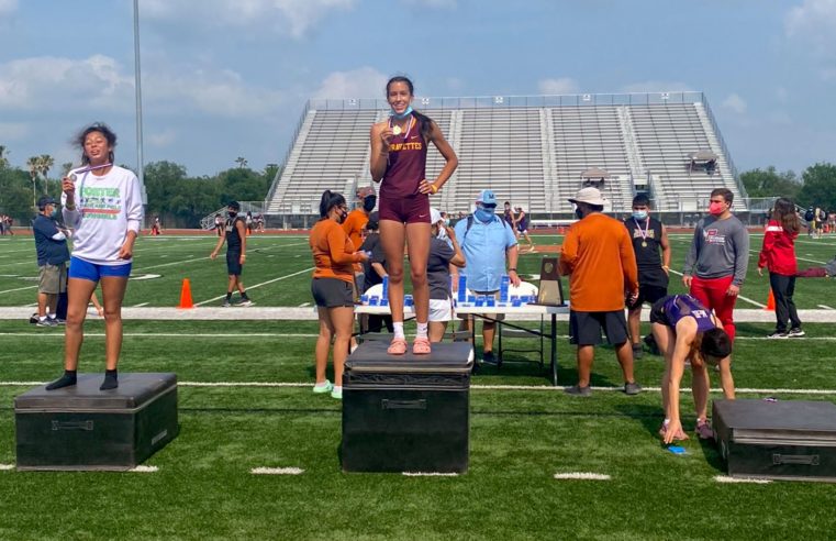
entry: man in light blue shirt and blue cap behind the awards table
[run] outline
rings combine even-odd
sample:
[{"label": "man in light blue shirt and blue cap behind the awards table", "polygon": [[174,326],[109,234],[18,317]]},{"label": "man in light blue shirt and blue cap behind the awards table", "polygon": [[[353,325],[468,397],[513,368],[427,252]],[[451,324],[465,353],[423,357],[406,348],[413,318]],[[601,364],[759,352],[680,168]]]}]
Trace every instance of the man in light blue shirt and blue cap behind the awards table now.
[{"label": "man in light blue shirt and blue cap behind the awards table", "polygon": [[[497,216],[497,196],[492,190],[479,192],[476,211],[456,223],[455,233],[467,261],[467,266],[460,274],[467,276],[467,287],[473,295],[495,296],[499,292],[506,261],[511,283],[514,286],[520,285],[520,276],[516,274],[516,235],[508,222]],[[497,319],[502,318],[498,316]],[[469,323],[468,319],[464,320],[462,329],[469,329]],[[492,321],[487,320],[482,324],[482,361],[486,363],[495,362],[494,327]]]}]

